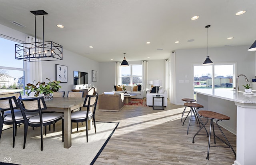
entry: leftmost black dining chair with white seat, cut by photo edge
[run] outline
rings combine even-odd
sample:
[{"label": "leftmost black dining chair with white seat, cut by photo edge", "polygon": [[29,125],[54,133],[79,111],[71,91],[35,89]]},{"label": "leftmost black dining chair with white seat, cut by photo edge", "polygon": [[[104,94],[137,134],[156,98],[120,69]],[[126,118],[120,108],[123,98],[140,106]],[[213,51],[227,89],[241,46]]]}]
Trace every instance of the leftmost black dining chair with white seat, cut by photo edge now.
[{"label": "leftmost black dining chair with white seat, cut by photo edge", "polygon": [[[20,108],[15,96],[1,97],[0,109],[1,111],[10,111],[10,115],[5,115],[4,119],[0,117],[0,139],[3,125],[12,125],[12,147],[14,147],[15,136],[17,135],[17,124],[24,123],[21,111],[14,113],[14,109]],[[38,115],[36,112],[29,112],[25,114],[27,118]]]}]

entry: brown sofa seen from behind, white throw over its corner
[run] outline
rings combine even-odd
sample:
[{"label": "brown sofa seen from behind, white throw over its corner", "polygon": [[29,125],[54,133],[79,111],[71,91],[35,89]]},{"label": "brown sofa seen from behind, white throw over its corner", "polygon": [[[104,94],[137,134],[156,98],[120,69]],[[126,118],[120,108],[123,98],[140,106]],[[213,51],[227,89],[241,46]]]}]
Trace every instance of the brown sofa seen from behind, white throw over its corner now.
[{"label": "brown sofa seen from behind, white throw over its corner", "polygon": [[124,107],[124,93],[100,94],[98,105],[99,111],[118,112]]}]

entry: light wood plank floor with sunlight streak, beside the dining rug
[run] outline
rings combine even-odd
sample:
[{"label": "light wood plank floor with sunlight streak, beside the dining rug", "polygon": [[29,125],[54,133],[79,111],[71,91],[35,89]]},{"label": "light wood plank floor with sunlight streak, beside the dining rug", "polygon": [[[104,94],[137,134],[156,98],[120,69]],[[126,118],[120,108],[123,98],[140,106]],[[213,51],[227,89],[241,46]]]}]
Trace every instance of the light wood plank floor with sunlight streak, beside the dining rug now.
[{"label": "light wood plank floor with sunlight streak, beside the dining rug", "polygon": [[[169,101],[169,100],[168,100]],[[177,109],[179,108],[179,109]],[[202,130],[192,143],[199,127],[182,126],[183,106],[168,103],[165,110],[125,106],[119,112],[96,111],[96,121],[120,122],[95,165],[231,165],[235,156],[230,148],[211,140],[210,160],[206,160],[208,137]],[[188,110],[188,108],[187,108]],[[221,121],[219,121],[221,122]],[[193,125],[197,125],[192,121]],[[209,130],[209,126],[206,127]],[[216,135],[222,137],[215,127]],[[223,129],[236,151],[236,136]],[[222,146],[222,147],[219,147]]]}]

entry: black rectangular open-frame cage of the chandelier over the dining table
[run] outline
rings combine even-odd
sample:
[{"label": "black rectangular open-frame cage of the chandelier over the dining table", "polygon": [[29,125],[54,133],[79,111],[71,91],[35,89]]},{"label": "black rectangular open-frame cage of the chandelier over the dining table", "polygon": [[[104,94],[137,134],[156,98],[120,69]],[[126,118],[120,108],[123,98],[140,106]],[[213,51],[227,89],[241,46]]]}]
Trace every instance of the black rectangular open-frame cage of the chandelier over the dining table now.
[{"label": "black rectangular open-frame cage of the chandelier over the dining table", "polygon": [[15,44],[15,59],[28,62],[62,60],[62,46],[52,41]]}]

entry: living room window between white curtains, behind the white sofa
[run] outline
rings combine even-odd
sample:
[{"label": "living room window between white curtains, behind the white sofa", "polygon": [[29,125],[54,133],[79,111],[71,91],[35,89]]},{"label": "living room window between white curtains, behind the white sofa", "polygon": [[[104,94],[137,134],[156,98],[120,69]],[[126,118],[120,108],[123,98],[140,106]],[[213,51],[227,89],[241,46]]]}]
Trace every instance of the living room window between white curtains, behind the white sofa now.
[{"label": "living room window between white curtains, behind the white sofa", "polygon": [[122,84],[142,84],[142,65],[130,65],[121,67]]}]

